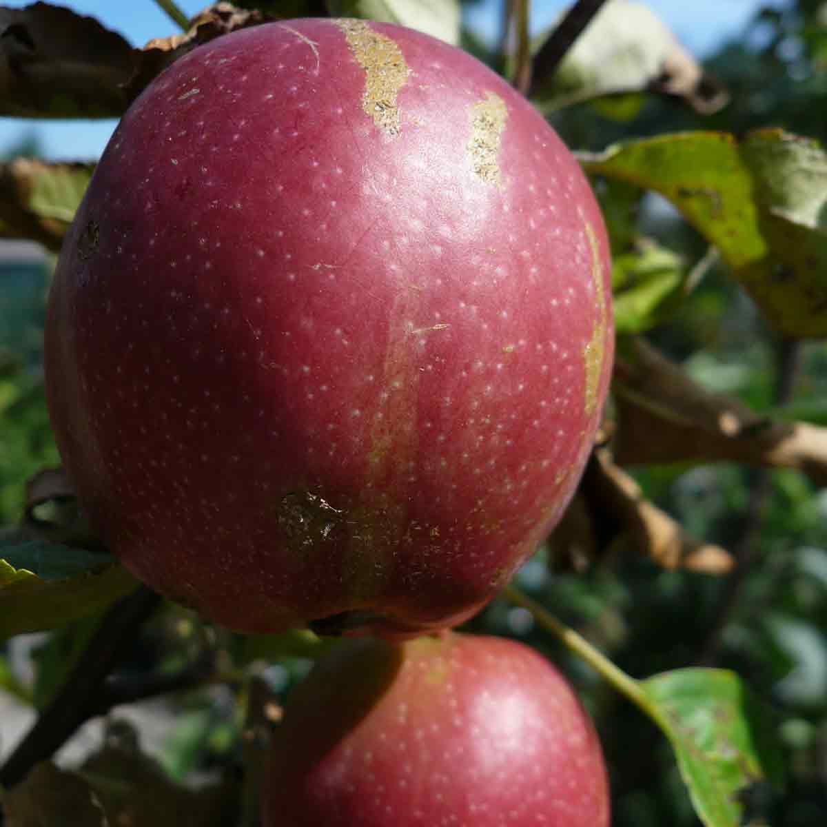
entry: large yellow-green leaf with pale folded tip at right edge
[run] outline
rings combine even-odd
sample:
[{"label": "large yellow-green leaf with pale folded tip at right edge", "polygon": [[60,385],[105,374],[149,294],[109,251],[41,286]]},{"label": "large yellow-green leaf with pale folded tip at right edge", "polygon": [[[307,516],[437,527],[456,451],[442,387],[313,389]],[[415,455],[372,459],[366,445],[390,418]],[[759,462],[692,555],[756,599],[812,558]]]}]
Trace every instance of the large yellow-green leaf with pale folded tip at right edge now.
[{"label": "large yellow-green leaf with pale folded tip at right edge", "polygon": [[782,333],[827,335],[827,156],[813,141],[781,130],[741,143],[723,132],[686,132],[581,160],[590,174],[668,198]]}]

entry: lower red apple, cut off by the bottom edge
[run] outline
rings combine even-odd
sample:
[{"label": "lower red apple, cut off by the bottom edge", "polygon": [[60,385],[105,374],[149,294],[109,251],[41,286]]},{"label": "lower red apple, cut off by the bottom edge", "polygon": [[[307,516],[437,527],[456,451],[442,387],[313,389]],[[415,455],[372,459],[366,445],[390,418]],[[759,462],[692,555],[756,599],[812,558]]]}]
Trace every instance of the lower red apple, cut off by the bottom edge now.
[{"label": "lower red apple, cut off by the bottom edge", "polygon": [[288,697],[263,827],[609,827],[589,716],[504,638],[351,640]]}]

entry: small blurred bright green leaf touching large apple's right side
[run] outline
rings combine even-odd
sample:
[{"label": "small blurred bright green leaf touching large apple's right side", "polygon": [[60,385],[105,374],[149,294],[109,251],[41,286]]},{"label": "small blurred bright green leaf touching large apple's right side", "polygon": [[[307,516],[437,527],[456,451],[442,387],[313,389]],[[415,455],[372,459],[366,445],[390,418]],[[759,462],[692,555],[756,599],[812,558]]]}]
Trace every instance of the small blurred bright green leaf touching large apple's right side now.
[{"label": "small blurred bright green leaf touching large apple's right side", "polygon": [[662,322],[680,303],[686,275],[681,256],[657,245],[616,256],[612,286],[617,332],[640,333]]}]

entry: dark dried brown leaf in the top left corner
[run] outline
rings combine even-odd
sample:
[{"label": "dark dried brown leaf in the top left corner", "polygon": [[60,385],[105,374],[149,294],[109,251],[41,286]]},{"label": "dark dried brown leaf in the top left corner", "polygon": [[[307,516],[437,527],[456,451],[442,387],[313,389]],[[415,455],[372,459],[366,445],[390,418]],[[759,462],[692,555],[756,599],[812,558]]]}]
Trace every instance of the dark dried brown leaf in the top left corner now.
[{"label": "dark dried brown leaf in the top left corner", "polygon": [[0,7],[0,115],[117,117],[132,51],[117,32],[68,8]]}]

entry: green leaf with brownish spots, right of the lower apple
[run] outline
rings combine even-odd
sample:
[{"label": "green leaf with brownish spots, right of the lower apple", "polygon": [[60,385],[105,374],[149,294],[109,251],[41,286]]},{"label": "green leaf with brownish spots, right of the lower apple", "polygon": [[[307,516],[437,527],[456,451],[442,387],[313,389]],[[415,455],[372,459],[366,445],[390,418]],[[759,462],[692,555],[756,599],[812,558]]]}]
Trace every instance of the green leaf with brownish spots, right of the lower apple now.
[{"label": "green leaf with brownish spots, right of the lower apple", "polygon": [[749,788],[781,785],[772,714],[734,672],[679,669],[639,686],[707,827],[739,827]]}]

